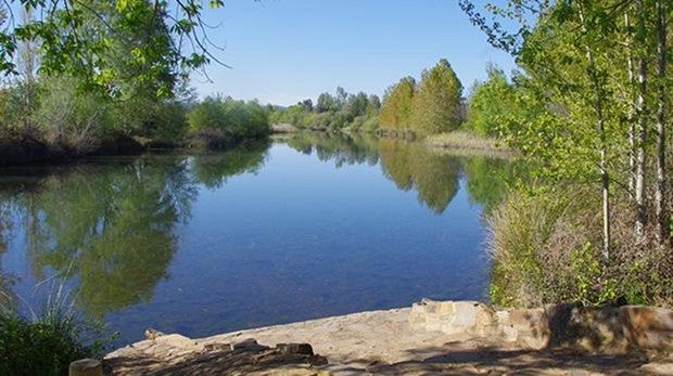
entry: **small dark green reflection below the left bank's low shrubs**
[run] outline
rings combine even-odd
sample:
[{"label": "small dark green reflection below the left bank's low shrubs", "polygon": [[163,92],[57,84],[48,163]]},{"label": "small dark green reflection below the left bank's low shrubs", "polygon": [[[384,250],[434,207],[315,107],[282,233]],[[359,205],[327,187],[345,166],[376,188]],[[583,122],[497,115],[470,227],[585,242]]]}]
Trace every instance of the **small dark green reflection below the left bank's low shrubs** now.
[{"label": "small dark green reflection below the left bank's low shrubs", "polygon": [[227,178],[256,173],[266,160],[268,140],[245,143],[225,153],[194,156],[191,170],[194,179],[206,187],[220,187]]}]

